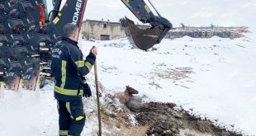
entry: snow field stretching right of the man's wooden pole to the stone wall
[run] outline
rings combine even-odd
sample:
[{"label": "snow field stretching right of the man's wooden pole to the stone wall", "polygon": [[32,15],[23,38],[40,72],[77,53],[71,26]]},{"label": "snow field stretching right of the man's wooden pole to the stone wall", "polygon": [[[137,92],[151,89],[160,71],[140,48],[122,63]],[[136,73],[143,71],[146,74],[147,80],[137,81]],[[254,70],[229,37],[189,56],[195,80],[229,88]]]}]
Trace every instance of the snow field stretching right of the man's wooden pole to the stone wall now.
[{"label": "snow field stretching right of the man's wooden pole to the stone wall", "polygon": [[[98,47],[99,81],[108,91],[124,91],[130,85],[140,96],[147,96],[147,101],[175,102],[217,119],[216,124],[256,134],[254,37],[254,33],[235,40],[184,37],[163,40],[154,46],[157,50],[149,52],[131,49],[126,39],[82,40],[81,47],[87,50],[85,54],[92,45]],[[192,68],[192,73],[178,81],[155,76],[168,68]]]}]

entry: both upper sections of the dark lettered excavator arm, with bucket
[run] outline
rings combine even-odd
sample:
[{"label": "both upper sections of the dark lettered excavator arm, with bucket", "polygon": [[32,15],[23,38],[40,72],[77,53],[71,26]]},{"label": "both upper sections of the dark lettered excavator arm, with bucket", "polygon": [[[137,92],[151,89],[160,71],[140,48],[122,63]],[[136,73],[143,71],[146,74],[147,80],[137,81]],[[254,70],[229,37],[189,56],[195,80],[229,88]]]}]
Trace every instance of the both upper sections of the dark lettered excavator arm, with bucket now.
[{"label": "both upper sections of the dark lettered excavator arm, with bucket", "polygon": [[[47,27],[52,33],[53,38],[62,35],[63,26],[66,23],[73,22],[81,28],[83,14],[88,0],[67,0],[60,9],[62,0],[53,0],[54,9],[50,12],[50,23]],[[154,15],[144,0],[121,0],[126,7],[132,12],[142,23],[149,23],[150,28],[140,29],[135,26],[134,21],[129,18],[122,18],[121,26],[126,30],[130,43],[139,49],[147,50],[154,45],[159,44],[168,31],[172,29],[172,24],[166,18],[161,16],[153,3],[148,0],[150,5],[154,7],[158,15]]]}]

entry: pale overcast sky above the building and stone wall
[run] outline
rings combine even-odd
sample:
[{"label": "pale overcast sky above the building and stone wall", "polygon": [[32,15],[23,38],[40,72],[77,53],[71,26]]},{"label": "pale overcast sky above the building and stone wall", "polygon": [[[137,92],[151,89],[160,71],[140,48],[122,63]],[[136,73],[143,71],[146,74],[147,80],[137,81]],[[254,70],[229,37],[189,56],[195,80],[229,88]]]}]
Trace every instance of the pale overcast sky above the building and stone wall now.
[{"label": "pale overcast sky above the building and stone wall", "polygon": [[[147,0],[145,0],[147,1]],[[160,14],[173,23],[189,26],[256,27],[256,0],[151,0]],[[153,10],[153,8],[152,8]],[[118,21],[127,16],[138,22],[121,0],[88,0],[83,20]]]}]

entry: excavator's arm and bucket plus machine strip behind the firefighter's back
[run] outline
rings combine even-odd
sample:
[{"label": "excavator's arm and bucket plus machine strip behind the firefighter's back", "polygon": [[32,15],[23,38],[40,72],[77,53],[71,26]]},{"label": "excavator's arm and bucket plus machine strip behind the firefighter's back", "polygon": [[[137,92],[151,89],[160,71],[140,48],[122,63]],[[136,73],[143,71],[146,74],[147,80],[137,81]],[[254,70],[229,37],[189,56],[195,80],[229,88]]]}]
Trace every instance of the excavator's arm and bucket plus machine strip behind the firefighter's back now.
[{"label": "excavator's arm and bucket plus machine strip behind the firefighter's back", "polygon": [[[40,34],[40,74],[51,77],[50,50],[55,45],[58,37],[63,35],[64,25],[74,23],[79,30],[83,22],[83,14],[88,0],[53,0],[54,9],[49,12],[46,29]],[[132,45],[139,49],[147,50],[159,44],[172,28],[172,24],[159,15],[155,16],[144,0],[121,0],[141,22],[149,23],[147,29],[135,26],[127,17],[121,19],[121,26],[126,30],[126,35]],[[149,1],[150,2],[150,1]],[[151,3],[151,2],[150,2]],[[152,5],[153,6],[153,5]],[[154,7],[154,6],[153,6]],[[156,11],[156,10],[155,10]],[[157,11],[156,11],[157,12]]]}]

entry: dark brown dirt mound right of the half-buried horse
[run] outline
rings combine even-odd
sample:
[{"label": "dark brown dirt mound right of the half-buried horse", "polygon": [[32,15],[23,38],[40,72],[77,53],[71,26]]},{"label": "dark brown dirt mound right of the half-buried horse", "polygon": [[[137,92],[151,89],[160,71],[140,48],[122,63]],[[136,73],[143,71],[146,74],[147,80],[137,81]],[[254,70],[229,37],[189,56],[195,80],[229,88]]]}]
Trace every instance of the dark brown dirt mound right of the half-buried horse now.
[{"label": "dark brown dirt mound right of the half-buried horse", "polygon": [[[173,103],[145,103],[143,110],[135,112],[135,119],[140,125],[149,125],[147,135],[242,135],[216,126],[211,120],[190,115],[185,110],[177,110],[175,107]],[[183,134],[185,131],[186,133]]]}]

